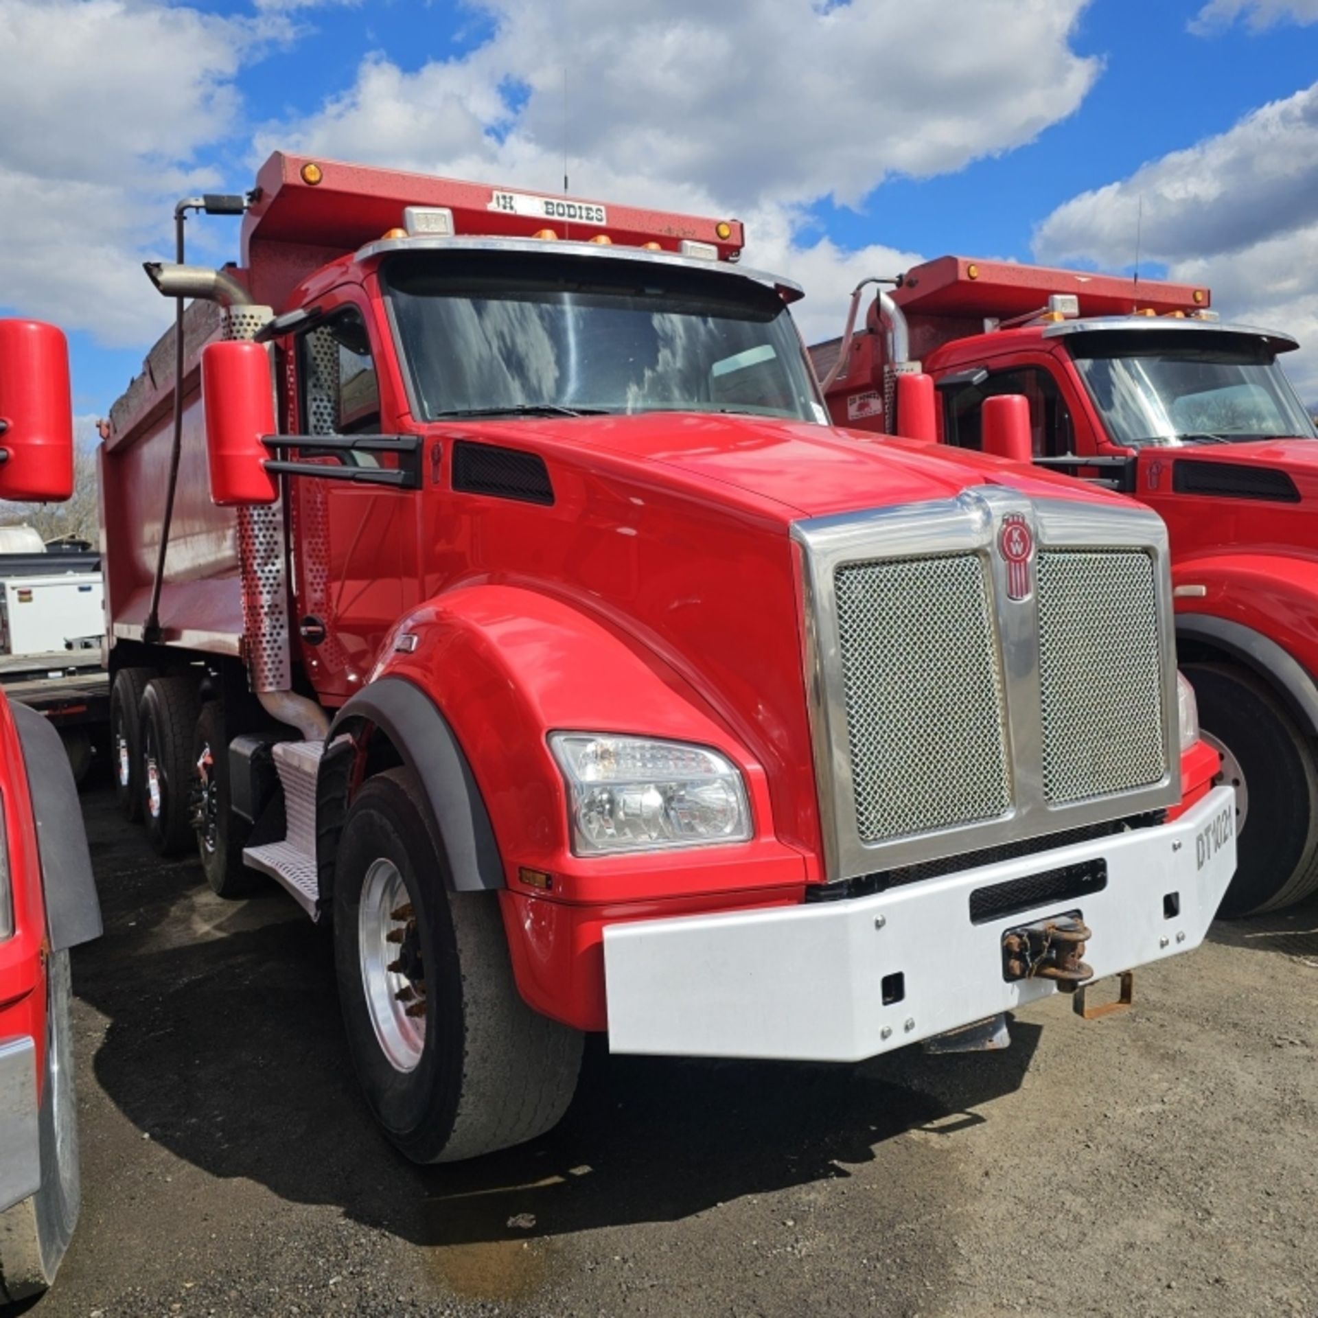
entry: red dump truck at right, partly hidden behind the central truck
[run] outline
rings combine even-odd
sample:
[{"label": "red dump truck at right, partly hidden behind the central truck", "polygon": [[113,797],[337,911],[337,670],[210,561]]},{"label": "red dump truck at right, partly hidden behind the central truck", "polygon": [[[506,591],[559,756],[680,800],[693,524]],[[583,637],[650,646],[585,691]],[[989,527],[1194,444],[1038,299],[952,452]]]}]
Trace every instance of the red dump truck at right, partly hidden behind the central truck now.
[{"label": "red dump truck at right, partly hidden behind the central truck", "polygon": [[908,432],[883,393],[923,368],[940,438],[982,449],[985,401],[1023,395],[1029,436],[1011,456],[1127,490],[1166,522],[1182,668],[1238,788],[1240,863],[1222,913],[1309,896],[1318,444],[1277,361],[1296,340],[1220,323],[1202,285],[952,256],[887,282],[845,356],[841,340],[812,349],[833,418]]}]

